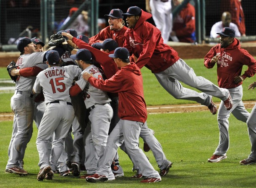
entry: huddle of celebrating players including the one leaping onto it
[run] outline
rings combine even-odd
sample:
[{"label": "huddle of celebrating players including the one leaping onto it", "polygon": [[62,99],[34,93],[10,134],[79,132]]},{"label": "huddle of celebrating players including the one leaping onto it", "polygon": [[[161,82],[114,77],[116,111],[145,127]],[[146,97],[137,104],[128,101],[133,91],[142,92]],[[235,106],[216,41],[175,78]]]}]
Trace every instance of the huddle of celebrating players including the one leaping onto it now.
[{"label": "huddle of celebrating players including the one leaping onto it", "polygon": [[[45,52],[39,39],[24,37],[18,42],[21,56],[17,68],[11,71],[17,81],[11,99],[14,120],[6,172],[28,174],[23,168],[23,158],[34,119],[38,128],[39,181],[52,180],[55,173],[62,176],[72,173],[88,182],[122,177],[118,147],[133,162],[133,169],[137,171],[133,178],[144,178],[142,183],[161,181],[172,162],[167,160],[154,131],[146,124],[140,71],[143,66],[149,68],[176,99],[199,102],[212,114],[217,113],[212,96],[222,100],[222,111],[228,115],[236,108],[230,88],[220,88],[196,76],[178,53],[164,44],[161,32],[146,22],[150,13],[133,6],[127,13],[113,9],[105,16],[109,18],[109,26],[90,39],[85,35],[77,36],[73,29],[59,31],[66,42]],[[126,16],[128,28],[124,26],[123,16]],[[224,29],[220,34],[234,42],[232,30]],[[224,37],[218,44],[221,47]],[[230,40],[230,44],[232,42]],[[224,61],[219,52],[218,56],[211,55],[212,66]],[[236,87],[255,73],[255,60],[248,61],[246,65],[252,70],[237,75]],[[179,81],[203,93],[184,88]],[[248,128],[253,139],[256,138],[254,129],[254,125]],[[139,148],[139,136],[144,140],[144,151],[152,150],[160,172],[154,170]],[[225,152],[214,153],[212,157],[224,159]],[[218,162],[212,157],[209,162]],[[85,175],[81,175],[83,170],[86,170]]]}]

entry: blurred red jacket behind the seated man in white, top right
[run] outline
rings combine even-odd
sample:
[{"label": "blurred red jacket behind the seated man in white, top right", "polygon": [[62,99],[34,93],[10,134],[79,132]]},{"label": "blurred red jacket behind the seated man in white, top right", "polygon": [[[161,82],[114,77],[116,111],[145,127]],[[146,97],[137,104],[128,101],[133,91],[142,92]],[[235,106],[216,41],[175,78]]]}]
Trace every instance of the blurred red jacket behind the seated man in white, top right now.
[{"label": "blurred red jacket behind the seated man in white, top right", "polygon": [[222,0],[221,6],[223,7],[222,12],[228,11],[231,13],[231,22],[238,26],[241,35],[246,34],[245,18],[241,2],[239,0]]}]

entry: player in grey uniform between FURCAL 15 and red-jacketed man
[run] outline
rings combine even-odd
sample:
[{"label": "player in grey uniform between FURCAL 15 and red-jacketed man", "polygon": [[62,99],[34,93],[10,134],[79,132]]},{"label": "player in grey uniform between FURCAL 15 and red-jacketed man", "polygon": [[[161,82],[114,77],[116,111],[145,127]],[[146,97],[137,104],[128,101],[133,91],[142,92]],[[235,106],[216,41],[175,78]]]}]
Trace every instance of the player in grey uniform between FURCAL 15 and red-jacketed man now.
[{"label": "player in grey uniform between FURCAL 15 and red-jacketed man", "polygon": [[[71,58],[76,60],[78,66],[83,69],[83,73],[89,72],[92,73],[95,78],[103,79],[99,68],[92,65],[91,52],[89,52],[89,50],[80,49],[76,52],[76,55],[71,55]],[[92,148],[91,144],[93,144],[97,153],[96,159],[95,157],[90,159],[91,155],[89,152],[86,152],[85,167],[88,174],[94,174],[97,170],[95,164],[101,164],[103,160],[113,110],[110,106],[111,99],[107,96],[107,92],[97,89],[91,86],[87,81],[84,81],[82,74],[79,76],[78,81],[76,81],[75,86],[71,88],[70,94],[74,96],[81,91],[84,91],[86,109],[90,110],[89,120],[91,131],[89,134],[86,133],[88,135],[85,139],[85,151],[90,151]],[[77,167],[76,170],[79,171],[79,168]],[[113,179],[115,179],[113,174],[112,176]]]}]

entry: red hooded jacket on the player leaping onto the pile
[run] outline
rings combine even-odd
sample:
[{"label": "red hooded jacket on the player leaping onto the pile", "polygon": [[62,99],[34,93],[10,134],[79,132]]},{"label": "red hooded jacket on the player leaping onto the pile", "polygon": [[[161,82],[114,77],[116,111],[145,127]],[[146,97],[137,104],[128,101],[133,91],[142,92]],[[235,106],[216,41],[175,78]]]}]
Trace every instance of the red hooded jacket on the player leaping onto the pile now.
[{"label": "red hooded jacket on the player leaping onto the pile", "polygon": [[146,22],[152,15],[144,10],[141,11],[141,17],[138,19],[134,29],[127,29],[125,32],[123,47],[138,57],[136,64],[139,68],[145,66],[152,73],[165,71],[180,57],[178,57],[178,53],[175,50],[164,44],[159,29]]}]

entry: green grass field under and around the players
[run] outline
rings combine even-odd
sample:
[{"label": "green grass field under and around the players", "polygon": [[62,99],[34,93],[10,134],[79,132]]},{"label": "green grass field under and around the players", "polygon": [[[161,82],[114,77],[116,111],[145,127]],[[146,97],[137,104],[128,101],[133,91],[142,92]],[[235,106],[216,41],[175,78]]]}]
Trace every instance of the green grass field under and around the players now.
[{"label": "green grass field under and around the players", "polygon": [[[202,59],[186,60],[198,76],[204,76],[217,84],[216,68],[206,69]],[[0,68],[0,73],[3,68]],[[6,70],[5,70],[6,71]],[[146,68],[142,69],[144,77],[144,93],[147,105],[156,104],[185,104],[192,103],[174,99],[162,89],[156,78]],[[1,78],[8,78],[3,76]],[[255,79],[256,80],[256,79]],[[248,91],[247,87],[254,78],[246,78],[243,83],[243,100],[254,100],[255,91]],[[185,84],[183,84],[185,86]],[[186,87],[186,86],[185,86]],[[10,112],[10,97],[12,94],[0,94],[1,111]],[[218,99],[214,98],[214,101]],[[5,109],[5,110],[2,110]],[[249,110],[250,111],[250,110]],[[130,178],[132,163],[128,156],[119,150],[120,164],[125,176],[115,181],[104,183],[87,183],[85,180],[70,177],[55,176],[53,181],[37,181],[39,161],[36,149],[37,128],[29,142],[24,157],[24,168],[29,172],[27,176],[5,174],[5,165],[8,161],[8,144],[12,133],[12,121],[0,122],[2,144],[0,145],[0,188],[254,188],[255,165],[241,166],[239,161],[247,158],[251,150],[246,123],[230,116],[230,149],[227,159],[219,163],[209,163],[219,141],[217,115],[206,112],[187,112],[176,114],[149,115],[147,123],[155,131],[155,136],[162,144],[167,159],[173,162],[168,175],[162,181],[154,184],[139,183],[139,179]],[[140,140],[141,146],[143,145]],[[159,170],[151,151],[147,152],[151,164]]]}]

